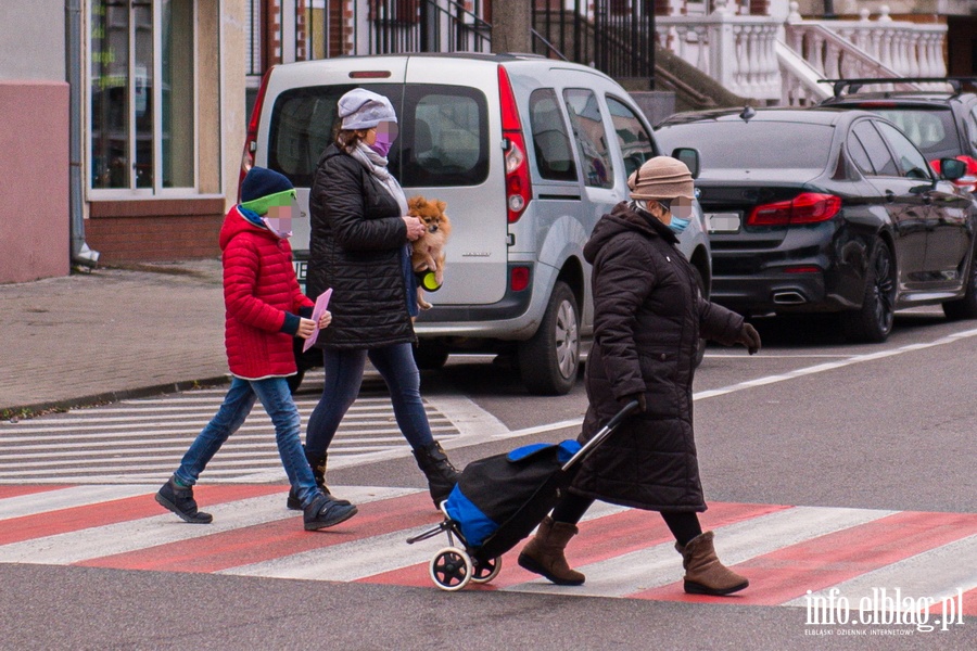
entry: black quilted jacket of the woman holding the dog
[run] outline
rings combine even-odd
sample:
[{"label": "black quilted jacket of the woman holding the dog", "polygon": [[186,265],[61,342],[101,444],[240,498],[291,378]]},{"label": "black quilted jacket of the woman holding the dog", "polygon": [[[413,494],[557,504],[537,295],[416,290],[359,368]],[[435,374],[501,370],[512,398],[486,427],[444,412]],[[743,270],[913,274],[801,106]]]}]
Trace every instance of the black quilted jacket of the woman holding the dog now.
[{"label": "black quilted jacket of the woman holding the dog", "polygon": [[394,197],[356,158],[330,144],[316,168],[308,204],[308,295],[315,298],[332,288],[332,323],[316,346],[415,342],[404,278],[407,227]]}]

